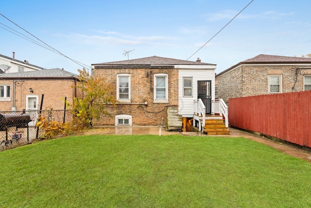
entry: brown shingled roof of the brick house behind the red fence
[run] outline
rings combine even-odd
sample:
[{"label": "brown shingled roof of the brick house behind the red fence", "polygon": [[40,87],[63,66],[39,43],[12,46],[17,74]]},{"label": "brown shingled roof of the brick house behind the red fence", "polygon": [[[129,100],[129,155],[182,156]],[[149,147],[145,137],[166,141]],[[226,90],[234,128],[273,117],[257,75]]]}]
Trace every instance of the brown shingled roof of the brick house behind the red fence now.
[{"label": "brown shingled roof of the brick house behind the red fence", "polygon": [[241,61],[240,63],[231,66],[225,71],[217,74],[216,76],[220,76],[225,74],[228,71],[242,65],[242,64],[311,64],[311,58],[305,57],[284,57],[284,56],[273,56],[273,55],[264,55],[259,54],[256,57],[252,57]]}]

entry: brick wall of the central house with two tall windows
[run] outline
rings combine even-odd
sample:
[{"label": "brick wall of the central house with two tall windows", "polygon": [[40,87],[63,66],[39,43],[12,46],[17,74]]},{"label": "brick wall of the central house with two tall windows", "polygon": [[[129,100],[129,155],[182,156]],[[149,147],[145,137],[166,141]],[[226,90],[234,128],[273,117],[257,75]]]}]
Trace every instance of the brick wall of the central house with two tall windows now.
[{"label": "brick wall of the central house with two tall windows", "polygon": [[[106,105],[109,115],[102,115],[100,120],[94,120],[94,125],[115,125],[115,116],[127,114],[132,116],[132,125],[160,125],[166,123],[166,108],[178,106],[178,70],[173,68],[114,68],[94,69],[94,76],[104,76],[106,81],[115,87],[113,94],[117,96],[117,75],[131,75],[131,103]],[[168,75],[169,103],[154,103],[154,75]],[[148,105],[145,107],[145,101]],[[146,113],[145,113],[146,111]],[[153,119],[155,118],[155,119]]]}]

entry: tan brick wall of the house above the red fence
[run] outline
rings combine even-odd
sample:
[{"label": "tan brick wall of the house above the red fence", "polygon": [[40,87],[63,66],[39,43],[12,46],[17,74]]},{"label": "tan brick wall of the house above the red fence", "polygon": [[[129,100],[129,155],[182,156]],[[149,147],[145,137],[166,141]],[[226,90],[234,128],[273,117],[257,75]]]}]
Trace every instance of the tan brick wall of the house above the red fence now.
[{"label": "tan brick wall of the house above the red fence", "polygon": [[303,67],[241,65],[216,76],[218,97],[228,104],[229,98],[269,94],[269,75],[282,75],[282,93],[303,91],[303,73],[309,70],[296,70],[297,68]]}]

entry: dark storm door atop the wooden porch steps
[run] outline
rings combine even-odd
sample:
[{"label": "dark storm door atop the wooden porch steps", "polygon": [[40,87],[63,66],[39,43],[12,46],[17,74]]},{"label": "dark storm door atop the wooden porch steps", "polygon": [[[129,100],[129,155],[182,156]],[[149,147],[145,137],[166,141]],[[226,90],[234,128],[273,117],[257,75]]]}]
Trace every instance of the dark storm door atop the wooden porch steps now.
[{"label": "dark storm door atop the wooden porch steps", "polygon": [[206,113],[211,113],[212,96],[211,96],[211,80],[198,81],[198,99],[201,98],[205,105]]}]

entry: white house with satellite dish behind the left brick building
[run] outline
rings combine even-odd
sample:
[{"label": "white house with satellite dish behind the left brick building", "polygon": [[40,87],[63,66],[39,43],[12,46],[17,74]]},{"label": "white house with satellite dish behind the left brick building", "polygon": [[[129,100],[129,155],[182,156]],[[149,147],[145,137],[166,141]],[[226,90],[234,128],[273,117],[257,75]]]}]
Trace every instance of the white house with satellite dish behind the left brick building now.
[{"label": "white house with satellite dish behind the left brick building", "polygon": [[0,55],[0,74],[29,72],[37,70],[44,70],[44,68],[30,64],[27,60],[20,61],[15,59],[14,52],[12,58]]}]

